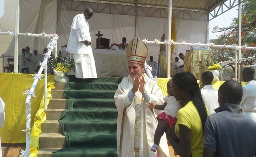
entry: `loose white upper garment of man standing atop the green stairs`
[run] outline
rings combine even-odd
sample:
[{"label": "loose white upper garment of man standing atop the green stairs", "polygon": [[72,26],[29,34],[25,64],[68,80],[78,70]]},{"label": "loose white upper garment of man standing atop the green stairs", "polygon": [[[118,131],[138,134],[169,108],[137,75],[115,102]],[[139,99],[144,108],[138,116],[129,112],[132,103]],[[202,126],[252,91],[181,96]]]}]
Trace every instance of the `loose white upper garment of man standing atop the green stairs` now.
[{"label": "loose white upper garment of man standing atop the green stairs", "polygon": [[92,41],[89,32],[89,23],[84,14],[78,14],[74,17],[71,31],[68,39],[66,51],[69,53],[92,55],[91,45],[85,45],[82,41]]}]

